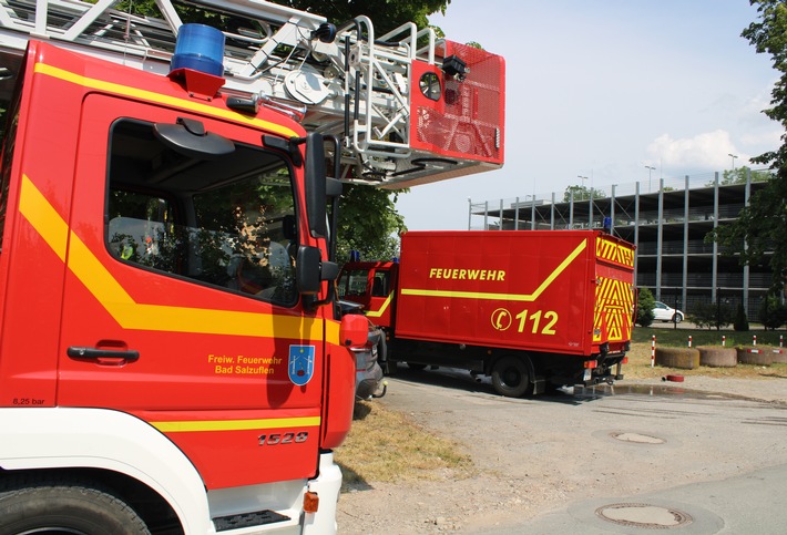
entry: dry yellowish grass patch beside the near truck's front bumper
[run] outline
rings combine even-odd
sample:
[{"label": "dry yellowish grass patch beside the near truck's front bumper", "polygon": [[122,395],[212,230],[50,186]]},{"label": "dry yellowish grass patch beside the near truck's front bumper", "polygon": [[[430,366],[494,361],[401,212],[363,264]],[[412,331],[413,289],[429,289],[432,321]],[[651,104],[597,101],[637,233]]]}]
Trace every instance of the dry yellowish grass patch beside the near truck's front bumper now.
[{"label": "dry yellowish grass patch beside the near truck's front bumper", "polygon": [[356,402],[352,429],[335,455],[344,474],[343,491],[370,482],[464,479],[473,473],[470,455],[458,443],[374,401]]}]

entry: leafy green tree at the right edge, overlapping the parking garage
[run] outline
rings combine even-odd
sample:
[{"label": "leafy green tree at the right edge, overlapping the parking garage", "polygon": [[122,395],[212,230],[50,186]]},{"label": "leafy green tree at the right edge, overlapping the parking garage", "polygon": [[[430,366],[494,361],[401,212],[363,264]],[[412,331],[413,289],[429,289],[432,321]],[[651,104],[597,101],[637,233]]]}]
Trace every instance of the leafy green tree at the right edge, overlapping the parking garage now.
[{"label": "leafy green tree at the right edge, overlapping the parking garage", "polygon": [[[742,35],[757,53],[769,53],[774,68],[781,73],[771,92],[771,107],[764,113],[787,131],[787,4],[784,0],[749,1],[757,7],[758,21],[749,24]],[[781,135],[781,141],[778,150],[752,158],[773,171],[767,186],[752,196],[737,220],[717,227],[712,234],[713,239],[740,255],[744,265],[758,264],[766,253],[773,251],[768,264],[774,272],[774,290],[784,288],[787,275],[787,134]]]}]

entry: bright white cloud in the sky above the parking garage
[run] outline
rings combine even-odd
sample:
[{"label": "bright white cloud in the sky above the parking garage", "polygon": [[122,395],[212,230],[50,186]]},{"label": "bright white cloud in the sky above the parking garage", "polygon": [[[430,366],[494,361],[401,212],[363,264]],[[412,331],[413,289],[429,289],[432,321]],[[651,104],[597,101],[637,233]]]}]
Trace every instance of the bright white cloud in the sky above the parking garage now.
[{"label": "bright white cloud in the sky above the parking garage", "polygon": [[725,130],[674,140],[670,134],[656,137],[647,146],[655,162],[672,169],[719,169],[729,165],[729,154],[738,156],[738,165],[748,165],[748,155],[740,153]]}]

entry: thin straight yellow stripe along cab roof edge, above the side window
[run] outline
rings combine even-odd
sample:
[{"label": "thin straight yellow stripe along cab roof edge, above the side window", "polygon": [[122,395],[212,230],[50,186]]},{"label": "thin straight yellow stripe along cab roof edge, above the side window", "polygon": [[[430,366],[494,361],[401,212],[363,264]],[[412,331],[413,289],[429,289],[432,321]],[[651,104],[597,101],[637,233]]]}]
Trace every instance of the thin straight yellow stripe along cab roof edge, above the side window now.
[{"label": "thin straight yellow stripe along cab roof edge, above the side window", "polygon": [[249,117],[237,112],[229,110],[222,110],[209,104],[203,104],[197,101],[177,99],[175,96],[167,96],[154,91],[146,91],[140,88],[132,88],[130,85],[121,85],[119,83],[105,82],[103,80],[96,80],[94,78],[82,76],[57,66],[48,65],[45,63],[35,63],[35,73],[44,74],[47,76],[57,78],[64,82],[81,85],[83,88],[102,91],[105,93],[113,93],[121,96],[129,96],[137,100],[145,100],[150,102],[155,102],[159,104],[165,104],[167,106],[180,107],[183,110],[190,110],[194,113],[201,113],[203,115],[212,115],[214,117],[226,119],[229,121],[235,121],[237,123],[244,123],[255,128],[266,130],[268,132],[274,132],[286,137],[294,137],[298,134],[282,126],[280,124],[272,123],[269,121],[263,121],[256,117]]}]

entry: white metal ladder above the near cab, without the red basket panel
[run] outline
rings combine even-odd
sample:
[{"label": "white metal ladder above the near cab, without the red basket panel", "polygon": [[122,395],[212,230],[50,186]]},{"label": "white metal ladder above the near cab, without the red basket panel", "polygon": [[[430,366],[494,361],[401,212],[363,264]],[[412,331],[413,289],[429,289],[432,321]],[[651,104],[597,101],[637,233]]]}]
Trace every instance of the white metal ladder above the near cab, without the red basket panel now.
[{"label": "white metal ladder above the near cab, without the red basket panel", "polygon": [[[431,29],[419,32],[410,22],[376,37],[368,17],[336,28],[324,17],[264,0],[155,2],[159,13],[142,17],[115,9],[117,0],[0,0],[0,78],[13,76],[29,39],[166,74],[180,13],[196,7],[225,35],[224,91],[256,95],[307,131],[337,136],[343,178],[385,187],[433,175],[436,166],[456,172],[476,163],[472,155],[467,162],[435,158],[429,144],[412,147],[413,125],[423,122],[413,116],[413,93],[423,83],[413,78],[413,65],[442,76],[447,55],[436,56],[447,49]],[[0,92],[11,86],[0,82]]]}]

